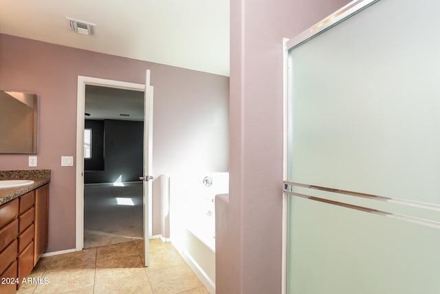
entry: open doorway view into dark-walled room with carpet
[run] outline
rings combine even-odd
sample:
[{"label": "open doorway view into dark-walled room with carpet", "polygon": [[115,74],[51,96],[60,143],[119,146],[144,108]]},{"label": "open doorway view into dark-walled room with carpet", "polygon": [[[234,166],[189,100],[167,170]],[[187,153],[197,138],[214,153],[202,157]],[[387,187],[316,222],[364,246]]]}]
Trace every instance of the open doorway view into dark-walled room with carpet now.
[{"label": "open doorway view into dark-walled room with carpet", "polygon": [[144,92],[85,86],[84,248],[143,239]]}]

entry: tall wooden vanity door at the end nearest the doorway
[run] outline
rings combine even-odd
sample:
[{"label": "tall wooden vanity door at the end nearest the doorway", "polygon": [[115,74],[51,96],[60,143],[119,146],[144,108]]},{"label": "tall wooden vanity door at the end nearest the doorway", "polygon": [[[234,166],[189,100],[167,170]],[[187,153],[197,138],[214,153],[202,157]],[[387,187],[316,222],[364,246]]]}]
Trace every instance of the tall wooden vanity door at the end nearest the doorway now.
[{"label": "tall wooden vanity door at the end nearest the doorway", "polygon": [[35,191],[35,235],[34,235],[34,266],[40,255],[44,253],[48,242],[49,223],[49,184]]}]

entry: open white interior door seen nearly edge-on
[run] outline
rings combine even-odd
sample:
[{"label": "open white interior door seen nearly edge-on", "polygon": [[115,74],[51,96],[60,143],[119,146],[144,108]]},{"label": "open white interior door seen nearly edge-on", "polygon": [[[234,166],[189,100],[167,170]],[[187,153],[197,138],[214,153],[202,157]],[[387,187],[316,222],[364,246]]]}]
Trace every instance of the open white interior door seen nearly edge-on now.
[{"label": "open white interior door seen nearly edge-on", "polygon": [[151,238],[151,193],[153,185],[153,86],[150,85],[150,71],[146,71],[144,100],[144,262],[149,264],[149,242]]}]

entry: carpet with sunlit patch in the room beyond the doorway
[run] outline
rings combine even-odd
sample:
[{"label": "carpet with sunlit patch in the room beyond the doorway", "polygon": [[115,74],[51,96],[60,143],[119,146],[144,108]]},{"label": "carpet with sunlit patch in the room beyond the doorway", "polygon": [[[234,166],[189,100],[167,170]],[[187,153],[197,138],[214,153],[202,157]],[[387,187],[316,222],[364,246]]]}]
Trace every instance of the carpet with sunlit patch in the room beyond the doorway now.
[{"label": "carpet with sunlit patch in the room beyond the doorway", "polygon": [[142,182],[84,187],[84,248],[143,238]]}]

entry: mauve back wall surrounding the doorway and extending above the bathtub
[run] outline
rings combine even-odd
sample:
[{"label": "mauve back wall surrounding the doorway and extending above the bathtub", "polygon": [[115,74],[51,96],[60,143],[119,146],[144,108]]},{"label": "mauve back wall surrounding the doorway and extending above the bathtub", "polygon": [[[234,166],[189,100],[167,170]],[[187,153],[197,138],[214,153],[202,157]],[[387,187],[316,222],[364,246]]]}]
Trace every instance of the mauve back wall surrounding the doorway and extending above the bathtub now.
[{"label": "mauve back wall surrounding the doorway and extending above the bathtub", "polygon": [[[76,155],[78,75],[145,83],[147,69],[155,176],[228,171],[228,77],[0,34],[0,89],[40,95],[37,169],[52,169],[47,251],[75,246],[75,167],[61,167],[61,156]],[[28,156],[0,154],[0,169],[29,169]]]}]

